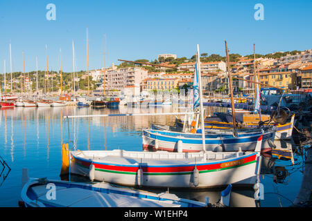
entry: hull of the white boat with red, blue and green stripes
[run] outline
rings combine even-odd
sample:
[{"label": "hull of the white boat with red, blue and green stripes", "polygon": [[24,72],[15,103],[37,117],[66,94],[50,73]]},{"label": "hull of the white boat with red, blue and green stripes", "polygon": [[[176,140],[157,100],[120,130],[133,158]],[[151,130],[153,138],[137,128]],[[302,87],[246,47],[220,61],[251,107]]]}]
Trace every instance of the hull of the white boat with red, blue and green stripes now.
[{"label": "hull of the white boat with red, blue and green stripes", "polygon": [[[123,162],[119,163],[123,155],[122,151],[121,158],[114,155],[110,160],[98,161],[79,157],[77,153],[71,154],[71,173],[89,176],[90,168],[93,165],[94,180],[125,186],[171,189],[209,189],[227,184],[252,186],[257,180],[257,169],[261,160],[259,153],[250,153],[212,162],[202,162],[198,155],[197,160],[194,158],[195,160],[191,161],[152,160],[150,162],[144,158],[142,160],[141,158],[125,157]],[[145,154],[155,155],[155,153]],[[166,154],[173,156],[177,153]],[[199,171],[197,185],[194,183],[195,167]],[[141,182],[138,180],[139,169],[143,171]]]}]

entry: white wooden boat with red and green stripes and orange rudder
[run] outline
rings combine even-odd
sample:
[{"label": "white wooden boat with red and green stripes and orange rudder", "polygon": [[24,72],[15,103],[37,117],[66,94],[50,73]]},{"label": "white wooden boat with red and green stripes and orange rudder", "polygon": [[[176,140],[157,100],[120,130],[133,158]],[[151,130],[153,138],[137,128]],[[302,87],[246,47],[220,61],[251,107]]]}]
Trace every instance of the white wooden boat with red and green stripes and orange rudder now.
[{"label": "white wooden boat with red and green stripes and orange rudder", "polygon": [[261,142],[262,135],[255,152],[221,153],[68,151],[68,144],[63,144],[62,173],[69,169],[70,173],[89,176],[90,180],[154,188],[250,186],[261,168]]}]

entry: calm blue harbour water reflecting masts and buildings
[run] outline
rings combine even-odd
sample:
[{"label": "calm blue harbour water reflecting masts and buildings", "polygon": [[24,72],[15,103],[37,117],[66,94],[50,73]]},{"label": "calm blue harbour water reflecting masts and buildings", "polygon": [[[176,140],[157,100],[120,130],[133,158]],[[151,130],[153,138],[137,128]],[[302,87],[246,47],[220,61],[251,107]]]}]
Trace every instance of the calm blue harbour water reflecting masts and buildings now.
[{"label": "calm blue harbour water reflecting masts and buildings", "polygon": [[[18,206],[21,191],[21,169],[28,168],[30,177],[49,177],[60,180],[62,165],[62,142],[73,140],[80,150],[141,151],[141,129],[151,123],[173,125],[174,116],[153,117],[94,117],[63,119],[66,115],[89,115],[104,113],[150,113],[177,111],[170,106],[164,108],[132,109],[120,107],[116,110],[76,108],[12,108],[0,110],[0,156],[12,169],[5,180],[6,170],[0,179],[0,206]],[[210,110],[211,111],[211,110]],[[220,110],[215,110],[220,111]],[[294,144],[277,142],[277,146],[288,148]],[[290,206],[302,182],[302,155],[293,154],[291,160],[278,160],[266,156],[263,160],[261,183],[264,186],[264,199],[258,206]],[[275,169],[286,169],[286,177],[274,182],[272,164]],[[266,166],[271,169],[266,169]],[[274,167],[273,166],[273,167]],[[279,166],[279,167],[277,167]],[[0,164],[0,171],[2,167]],[[75,177],[73,177],[74,179]],[[78,177],[76,177],[78,179]],[[159,190],[154,192],[159,193]],[[171,191],[182,198],[200,200],[205,197],[210,202],[220,198],[220,191]],[[254,191],[234,190],[232,206],[256,206]]]}]

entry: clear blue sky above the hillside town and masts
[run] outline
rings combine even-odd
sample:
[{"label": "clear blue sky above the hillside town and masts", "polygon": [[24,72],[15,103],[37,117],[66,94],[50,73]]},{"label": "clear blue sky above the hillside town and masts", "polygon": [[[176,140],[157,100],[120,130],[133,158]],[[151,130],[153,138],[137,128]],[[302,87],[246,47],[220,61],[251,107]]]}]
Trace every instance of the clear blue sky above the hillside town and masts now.
[{"label": "clear blue sky above the hillside town and masts", "polygon": [[[46,20],[46,5],[56,6],[56,21]],[[264,21],[254,19],[254,5],[264,6]],[[225,55],[224,40],[230,53],[305,50],[312,48],[312,1],[0,1],[0,73],[3,60],[10,71],[9,44],[12,44],[13,71],[49,68],[72,70],[71,41],[75,43],[78,70],[87,69],[86,28],[89,37],[89,69],[118,59],[156,59],[158,54],[174,53],[191,57],[200,52]]]}]

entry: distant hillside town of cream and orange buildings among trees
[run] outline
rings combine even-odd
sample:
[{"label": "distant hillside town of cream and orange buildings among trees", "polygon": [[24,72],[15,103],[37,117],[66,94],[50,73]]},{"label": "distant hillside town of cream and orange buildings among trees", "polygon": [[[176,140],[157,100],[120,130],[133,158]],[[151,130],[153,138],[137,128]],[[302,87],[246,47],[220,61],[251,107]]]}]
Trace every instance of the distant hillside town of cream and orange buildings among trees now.
[{"label": "distant hillside town of cream and orange buildings among trees", "polygon": [[[202,86],[204,94],[228,93],[227,64],[225,57],[207,53],[200,55]],[[256,59],[254,60],[254,57]],[[312,87],[312,50],[275,52],[268,55],[229,55],[234,93],[252,93],[253,84],[237,78],[253,80],[259,74],[263,85],[288,90],[306,90]],[[177,57],[173,54],[158,55],[155,61],[138,59],[138,63],[123,62],[108,68],[80,70],[62,73],[62,92],[80,95],[89,90],[93,95],[132,93],[142,91],[171,91],[189,88],[193,84],[196,56]],[[148,64],[159,66],[149,66]],[[256,68],[254,70],[254,68]],[[5,74],[4,74],[5,73]],[[37,75],[38,73],[38,75]],[[4,77],[6,75],[6,77]],[[39,70],[28,73],[10,73],[4,70],[0,75],[1,93],[60,93],[60,71]]]}]

